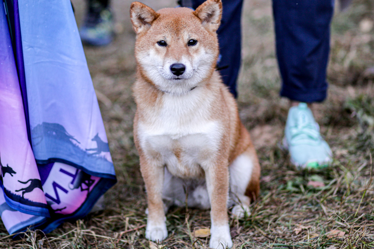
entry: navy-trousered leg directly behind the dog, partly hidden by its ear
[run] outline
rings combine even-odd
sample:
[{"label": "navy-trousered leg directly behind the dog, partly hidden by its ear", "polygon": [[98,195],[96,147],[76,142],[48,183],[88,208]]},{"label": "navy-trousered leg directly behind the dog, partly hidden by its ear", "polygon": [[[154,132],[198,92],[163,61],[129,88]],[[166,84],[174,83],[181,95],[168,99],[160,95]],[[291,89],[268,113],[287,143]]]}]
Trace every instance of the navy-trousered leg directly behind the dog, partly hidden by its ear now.
[{"label": "navy-trousered leg directly behind the dog, partly hidden by its ear", "polygon": [[[196,9],[205,0],[181,0],[183,7]],[[189,6],[191,4],[191,6]],[[223,13],[220,28],[217,30],[220,44],[220,59],[218,69],[223,82],[236,97],[236,80],[239,74],[241,61],[241,30],[240,18],[242,15],[243,0],[223,0]]]}]

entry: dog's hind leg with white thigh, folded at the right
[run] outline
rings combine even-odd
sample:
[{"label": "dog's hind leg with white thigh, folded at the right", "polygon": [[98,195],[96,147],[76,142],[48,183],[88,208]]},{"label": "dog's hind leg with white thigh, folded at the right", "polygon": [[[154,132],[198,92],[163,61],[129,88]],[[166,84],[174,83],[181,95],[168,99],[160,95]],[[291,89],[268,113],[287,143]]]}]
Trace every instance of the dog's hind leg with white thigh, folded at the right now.
[{"label": "dog's hind leg with white thigh, folded at the right", "polygon": [[234,202],[232,214],[243,218],[249,214],[249,204],[260,192],[260,164],[252,146],[237,156],[229,166],[230,198]]}]

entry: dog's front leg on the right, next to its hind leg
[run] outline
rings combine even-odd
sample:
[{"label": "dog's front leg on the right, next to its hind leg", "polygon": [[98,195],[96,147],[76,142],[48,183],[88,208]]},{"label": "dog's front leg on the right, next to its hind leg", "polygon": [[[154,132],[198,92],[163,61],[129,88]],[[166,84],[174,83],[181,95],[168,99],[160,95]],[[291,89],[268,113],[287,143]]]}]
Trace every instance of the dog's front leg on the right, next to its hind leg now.
[{"label": "dog's front leg on the right, next to its hind leg", "polygon": [[[224,160],[223,160],[224,161]],[[221,165],[219,165],[221,164]],[[210,248],[231,248],[229,217],[227,215],[227,195],[229,192],[229,168],[219,162],[205,171],[206,186],[211,202]]]}]

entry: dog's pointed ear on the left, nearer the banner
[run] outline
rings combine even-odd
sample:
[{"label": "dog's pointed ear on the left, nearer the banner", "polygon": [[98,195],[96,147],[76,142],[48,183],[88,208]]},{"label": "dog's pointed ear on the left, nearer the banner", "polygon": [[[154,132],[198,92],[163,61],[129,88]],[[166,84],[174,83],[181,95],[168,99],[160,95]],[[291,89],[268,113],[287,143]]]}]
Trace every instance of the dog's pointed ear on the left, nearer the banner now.
[{"label": "dog's pointed ear on the left, nearer the banner", "polygon": [[134,28],[137,34],[147,31],[159,15],[159,13],[156,13],[156,11],[145,4],[139,2],[131,3],[130,17],[132,28]]}]

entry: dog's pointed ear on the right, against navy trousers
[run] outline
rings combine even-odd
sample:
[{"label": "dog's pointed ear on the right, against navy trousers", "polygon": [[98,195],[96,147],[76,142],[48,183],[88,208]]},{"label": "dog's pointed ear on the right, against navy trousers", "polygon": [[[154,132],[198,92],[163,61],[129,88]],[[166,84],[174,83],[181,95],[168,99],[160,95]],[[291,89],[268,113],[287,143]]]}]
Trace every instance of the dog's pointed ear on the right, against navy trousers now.
[{"label": "dog's pointed ear on the right, against navy trousers", "polygon": [[215,32],[220,27],[222,2],[221,0],[207,0],[197,7],[193,14],[200,18],[206,29]]}]

